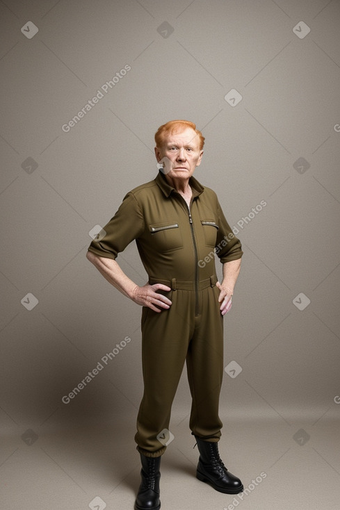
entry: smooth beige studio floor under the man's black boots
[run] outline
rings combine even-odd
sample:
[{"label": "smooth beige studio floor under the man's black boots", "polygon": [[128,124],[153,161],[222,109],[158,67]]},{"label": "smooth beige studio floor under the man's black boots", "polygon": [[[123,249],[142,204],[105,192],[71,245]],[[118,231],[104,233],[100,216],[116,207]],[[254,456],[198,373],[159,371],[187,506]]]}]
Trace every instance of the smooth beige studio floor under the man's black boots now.
[{"label": "smooth beige studio floor under the man's black boots", "polygon": [[[27,429],[6,434],[0,461],[1,510],[131,510],[140,483],[133,421]],[[187,420],[172,417],[175,438],[161,462],[163,510],[339,510],[339,420],[226,420],[220,455],[243,481],[221,494],[195,478],[197,447]]]}]

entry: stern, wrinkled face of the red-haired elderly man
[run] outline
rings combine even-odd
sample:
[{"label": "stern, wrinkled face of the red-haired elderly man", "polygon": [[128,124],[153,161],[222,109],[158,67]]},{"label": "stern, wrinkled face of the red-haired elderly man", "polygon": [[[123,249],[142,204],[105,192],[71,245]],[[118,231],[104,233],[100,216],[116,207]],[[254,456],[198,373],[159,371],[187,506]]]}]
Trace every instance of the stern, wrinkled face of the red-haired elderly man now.
[{"label": "stern, wrinkled face of the red-haired elderly man", "polygon": [[155,147],[156,159],[163,163],[163,173],[170,179],[188,179],[200,165],[203,151],[200,138],[191,128],[181,133],[168,135],[162,147]]}]

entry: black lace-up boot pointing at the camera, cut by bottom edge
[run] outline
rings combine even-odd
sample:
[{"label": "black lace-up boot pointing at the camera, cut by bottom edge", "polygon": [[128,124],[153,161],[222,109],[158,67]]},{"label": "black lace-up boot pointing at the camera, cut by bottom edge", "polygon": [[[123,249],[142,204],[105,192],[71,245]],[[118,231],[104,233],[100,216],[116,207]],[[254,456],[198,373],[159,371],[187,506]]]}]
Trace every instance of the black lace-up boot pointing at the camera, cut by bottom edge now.
[{"label": "black lace-up boot pointing at the camera, cut by bottom edge", "polygon": [[135,510],[159,510],[159,479],[161,478],[161,457],[147,457],[140,454],[142,482],[135,502]]}]

